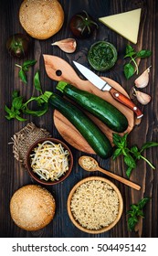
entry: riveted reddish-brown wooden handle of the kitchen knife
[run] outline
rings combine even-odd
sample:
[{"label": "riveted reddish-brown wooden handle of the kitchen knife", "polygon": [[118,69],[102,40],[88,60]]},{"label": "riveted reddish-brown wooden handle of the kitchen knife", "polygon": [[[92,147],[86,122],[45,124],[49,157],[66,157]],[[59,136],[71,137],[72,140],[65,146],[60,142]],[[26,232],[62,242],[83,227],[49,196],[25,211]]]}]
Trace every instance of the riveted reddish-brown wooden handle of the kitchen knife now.
[{"label": "riveted reddish-brown wooden handle of the kitchen knife", "polygon": [[133,112],[135,112],[137,118],[142,117],[142,112],[138,109],[138,107],[125,95],[123,95],[120,91],[115,90],[114,88],[111,88],[110,90],[111,96],[116,100],[121,102],[123,105],[131,109]]}]

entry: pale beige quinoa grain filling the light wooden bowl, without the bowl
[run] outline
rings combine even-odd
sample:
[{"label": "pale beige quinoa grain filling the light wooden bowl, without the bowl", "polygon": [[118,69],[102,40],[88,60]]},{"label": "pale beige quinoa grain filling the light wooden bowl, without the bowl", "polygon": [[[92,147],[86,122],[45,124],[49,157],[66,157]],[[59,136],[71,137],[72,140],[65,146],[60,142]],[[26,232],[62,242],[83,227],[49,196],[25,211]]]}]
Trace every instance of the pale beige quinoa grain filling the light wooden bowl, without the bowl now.
[{"label": "pale beige quinoa grain filling the light wooden bowl, without the bowl", "polygon": [[74,219],[86,229],[109,226],[119,212],[119,197],[106,182],[91,180],[80,185],[71,198]]}]

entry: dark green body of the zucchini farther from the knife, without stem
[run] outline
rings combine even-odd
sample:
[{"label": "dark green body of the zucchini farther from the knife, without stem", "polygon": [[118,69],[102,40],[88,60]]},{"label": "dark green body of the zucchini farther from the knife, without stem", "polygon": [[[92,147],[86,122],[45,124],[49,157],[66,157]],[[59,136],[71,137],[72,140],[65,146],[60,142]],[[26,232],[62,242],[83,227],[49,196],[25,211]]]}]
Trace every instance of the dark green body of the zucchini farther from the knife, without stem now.
[{"label": "dark green body of the zucchini farther from the knife, without stem", "polygon": [[77,128],[97,155],[105,159],[112,155],[112,146],[107,136],[78,107],[55,93],[48,102]]}]

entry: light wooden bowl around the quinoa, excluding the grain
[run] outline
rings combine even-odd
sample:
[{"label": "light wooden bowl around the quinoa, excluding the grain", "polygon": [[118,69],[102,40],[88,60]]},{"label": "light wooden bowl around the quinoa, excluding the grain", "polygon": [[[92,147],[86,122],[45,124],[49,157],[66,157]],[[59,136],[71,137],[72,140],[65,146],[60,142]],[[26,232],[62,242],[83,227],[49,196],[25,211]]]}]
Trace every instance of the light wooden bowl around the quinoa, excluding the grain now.
[{"label": "light wooden bowl around the quinoa, excluding the grain", "polygon": [[[101,227],[100,229],[88,229],[84,226],[82,226],[78,219],[74,217],[74,214],[72,212],[72,197],[75,195],[77,189],[89,182],[89,181],[101,181],[103,183],[106,183],[107,185],[109,185],[111,187],[111,190],[114,190],[117,194],[117,197],[118,197],[118,200],[119,200],[119,206],[118,206],[118,212],[117,212],[117,215],[116,215],[116,218],[112,220],[112,222],[110,224],[108,224],[108,226],[105,226],[105,227]],[[78,190],[79,191],[79,190]],[[79,193],[79,192],[78,192]],[[115,194],[115,195],[116,195]],[[80,205],[82,206],[83,208],[83,200],[81,199],[80,200]],[[86,204],[86,206],[88,206],[88,204]],[[106,178],[103,178],[103,177],[100,177],[100,176],[90,176],[90,177],[87,177],[87,178],[84,178],[82,179],[81,181],[79,181],[79,183],[77,183],[70,191],[69,195],[68,195],[68,202],[67,202],[67,208],[68,208],[68,216],[69,216],[69,219],[72,221],[72,223],[78,228],[80,229],[81,231],[84,231],[84,232],[87,232],[87,233],[91,233],[91,234],[99,234],[99,233],[102,233],[102,232],[106,232],[110,229],[112,229],[117,223],[118,221],[121,219],[121,214],[122,214],[122,210],[123,210],[123,201],[122,201],[122,197],[121,197],[121,192],[120,190],[118,189],[118,187],[116,187],[110,180],[106,179]],[[88,212],[87,212],[88,213]],[[99,218],[100,219],[100,218]]]}]

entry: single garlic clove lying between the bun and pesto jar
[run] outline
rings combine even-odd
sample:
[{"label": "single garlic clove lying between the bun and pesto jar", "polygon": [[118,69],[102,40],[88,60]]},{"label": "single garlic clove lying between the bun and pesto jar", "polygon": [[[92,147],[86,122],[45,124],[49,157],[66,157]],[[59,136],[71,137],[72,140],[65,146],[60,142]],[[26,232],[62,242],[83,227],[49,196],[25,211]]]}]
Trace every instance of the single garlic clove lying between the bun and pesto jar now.
[{"label": "single garlic clove lying between the bun and pesto jar", "polygon": [[58,46],[63,51],[72,53],[77,48],[77,42],[74,38],[66,38],[51,44],[51,46]]}]

